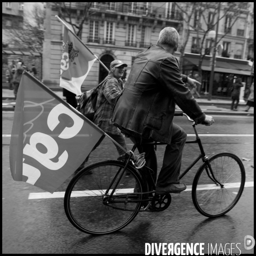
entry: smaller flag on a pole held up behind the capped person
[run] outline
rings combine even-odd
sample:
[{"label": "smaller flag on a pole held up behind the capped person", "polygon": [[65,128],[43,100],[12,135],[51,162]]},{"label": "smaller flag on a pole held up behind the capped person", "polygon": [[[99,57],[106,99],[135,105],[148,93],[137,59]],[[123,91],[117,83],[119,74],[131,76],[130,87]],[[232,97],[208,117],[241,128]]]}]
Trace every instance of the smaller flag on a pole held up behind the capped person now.
[{"label": "smaller flag on a pole held up behind the capped person", "polygon": [[95,60],[76,35],[64,26],[60,87],[81,95],[81,85]]}]

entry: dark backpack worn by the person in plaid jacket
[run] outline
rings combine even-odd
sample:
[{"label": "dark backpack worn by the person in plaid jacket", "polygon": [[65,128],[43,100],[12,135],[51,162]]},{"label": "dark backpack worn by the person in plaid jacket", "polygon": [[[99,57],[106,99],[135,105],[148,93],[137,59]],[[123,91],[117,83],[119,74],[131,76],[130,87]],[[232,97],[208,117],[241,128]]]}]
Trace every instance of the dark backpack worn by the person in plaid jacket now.
[{"label": "dark backpack worn by the person in plaid jacket", "polygon": [[[96,104],[97,104],[97,98],[98,98],[98,88],[107,80],[109,80],[111,77],[107,76],[97,87],[88,90],[85,93],[82,93],[80,96],[76,109],[82,113],[87,119],[89,119],[91,122],[94,121],[94,118],[96,117]],[[98,109],[98,112],[102,109],[104,104],[100,106]]]}]

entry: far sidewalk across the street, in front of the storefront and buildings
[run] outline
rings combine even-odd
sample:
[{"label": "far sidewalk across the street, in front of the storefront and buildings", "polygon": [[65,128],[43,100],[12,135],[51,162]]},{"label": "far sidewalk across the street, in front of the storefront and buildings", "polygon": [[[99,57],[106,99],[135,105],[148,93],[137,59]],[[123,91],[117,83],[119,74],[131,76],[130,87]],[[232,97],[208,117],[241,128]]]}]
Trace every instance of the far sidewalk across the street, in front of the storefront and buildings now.
[{"label": "far sidewalk across the street, in front of the storefront and buildings", "polygon": [[[54,91],[59,97],[66,100],[65,97],[62,95],[62,91]],[[76,99],[79,99],[79,97],[76,97]],[[12,101],[15,102],[15,97],[13,94],[13,90],[9,89],[2,89],[2,101]],[[231,111],[230,105],[231,105],[231,99],[212,99],[208,101],[207,99],[196,99],[199,106],[202,106],[202,110],[206,114],[219,114],[219,115],[242,115],[242,116],[254,116],[254,108],[250,108],[248,112],[245,112],[245,106],[246,102],[239,102],[238,111]],[[10,103],[11,104],[11,103]],[[14,111],[14,104],[13,105],[2,105],[3,111]],[[224,108],[221,108],[220,106],[224,106]],[[176,108],[177,112],[180,112],[179,108]]]}]

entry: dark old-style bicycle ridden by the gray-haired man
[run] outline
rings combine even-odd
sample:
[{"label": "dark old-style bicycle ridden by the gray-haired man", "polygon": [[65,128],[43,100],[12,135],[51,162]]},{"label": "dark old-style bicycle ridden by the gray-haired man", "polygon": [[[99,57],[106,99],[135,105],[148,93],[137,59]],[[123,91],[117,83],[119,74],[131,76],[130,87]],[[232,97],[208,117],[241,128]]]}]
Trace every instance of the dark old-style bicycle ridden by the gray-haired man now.
[{"label": "dark old-style bicycle ridden by the gray-haired man", "polygon": [[[198,143],[201,154],[179,178],[202,159],[192,183],[193,204],[202,215],[219,217],[229,212],[241,197],[245,183],[243,163],[235,154],[228,152],[219,152],[208,158],[195,122],[185,113],[175,114],[183,115],[193,122],[196,136],[195,140],[186,143]],[[125,134],[124,131],[122,133]],[[152,170],[145,165],[145,153],[136,157],[136,148],[137,144],[117,160],[90,164],[73,177],[65,192],[64,209],[74,227],[93,235],[110,234],[131,223],[139,212],[160,212],[169,207],[171,194],[155,193]],[[85,175],[90,171],[93,174]],[[126,171],[130,172],[129,176],[125,175]],[[145,171],[149,172],[151,180],[145,179]],[[153,190],[149,191],[151,187]]]}]

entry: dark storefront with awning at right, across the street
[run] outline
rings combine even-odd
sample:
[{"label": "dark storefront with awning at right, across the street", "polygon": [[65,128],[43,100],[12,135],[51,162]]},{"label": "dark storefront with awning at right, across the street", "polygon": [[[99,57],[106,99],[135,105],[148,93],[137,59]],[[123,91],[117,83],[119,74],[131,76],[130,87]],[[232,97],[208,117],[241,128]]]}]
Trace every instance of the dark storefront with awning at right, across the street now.
[{"label": "dark storefront with awning at right, across the street", "polygon": [[[183,73],[191,76],[194,76],[196,73],[198,73],[199,58],[199,54],[185,53],[183,59]],[[210,64],[210,58],[211,56],[206,55],[201,66],[201,94],[209,93],[209,80],[212,68]],[[230,87],[236,78],[241,78],[242,82],[245,83],[244,98],[246,99],[250,85],[253,81],[252,68],[253,62],[251,61],[216,57],[212,95],[230,97]]]}]

